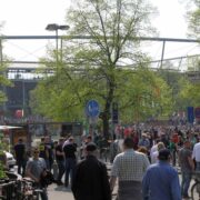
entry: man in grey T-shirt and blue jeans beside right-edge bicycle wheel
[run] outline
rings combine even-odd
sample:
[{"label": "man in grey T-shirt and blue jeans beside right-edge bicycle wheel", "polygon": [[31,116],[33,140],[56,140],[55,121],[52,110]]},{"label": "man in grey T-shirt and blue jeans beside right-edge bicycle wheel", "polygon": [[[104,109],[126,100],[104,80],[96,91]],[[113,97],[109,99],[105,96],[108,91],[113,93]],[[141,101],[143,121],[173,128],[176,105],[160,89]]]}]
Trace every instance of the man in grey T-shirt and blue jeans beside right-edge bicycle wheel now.
[{"label": "man in grey T-shirt and blue jeans beside right-edge bicycle wheel", "polygon": [[194,162],[192,160],[192,151],[190,149],[191,142],[186,140],[183,143],[183,148],[179,151],[179,164],[181,168],[181,193],[182,197],[189,198],[188,190],[190,187],[192,171],[194,170]]}]

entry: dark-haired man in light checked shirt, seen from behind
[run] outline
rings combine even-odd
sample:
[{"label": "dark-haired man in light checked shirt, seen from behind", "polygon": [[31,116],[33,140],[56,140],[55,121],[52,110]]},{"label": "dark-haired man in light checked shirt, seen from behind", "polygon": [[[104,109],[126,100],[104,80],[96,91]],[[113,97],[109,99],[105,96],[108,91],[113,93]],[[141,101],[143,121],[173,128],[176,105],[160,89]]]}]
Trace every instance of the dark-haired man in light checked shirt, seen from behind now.
[{"label": "dark-haired man in light checked shirt, seen from behind", "polygon": [[133,150],[132,138],[123,140],[123,152],[119,153],[111,168],[110,188],[113,191],[118,178],[118,200],[141,200],[141,181],[149,167],[146,154]]}]

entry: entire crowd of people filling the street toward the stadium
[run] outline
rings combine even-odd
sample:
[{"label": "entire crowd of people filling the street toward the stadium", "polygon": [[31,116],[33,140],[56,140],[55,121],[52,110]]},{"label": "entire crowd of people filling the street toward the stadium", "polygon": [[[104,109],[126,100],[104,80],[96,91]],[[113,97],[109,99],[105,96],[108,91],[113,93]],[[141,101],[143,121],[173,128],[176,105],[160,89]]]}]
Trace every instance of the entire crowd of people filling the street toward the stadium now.
[{"label": "entire crowd of people filling the street toward the stadium", "polygon": [[[40,186],[41,173],[48,169],[54,173],[58,186],[71,188],[76,200],[111,200],[116,186],[118,200],[189,198],[192,173],[200,171],[199,129],[132,129],[107,146],[112,163],[110,172],[98,153],[101,146],[97,136],[86,136],[80,147],[72,136],[58,141],[42,137],[30,157],[22,139],[13,149],[18,173]],[[48,199],[46,188],[42,199]]]}]

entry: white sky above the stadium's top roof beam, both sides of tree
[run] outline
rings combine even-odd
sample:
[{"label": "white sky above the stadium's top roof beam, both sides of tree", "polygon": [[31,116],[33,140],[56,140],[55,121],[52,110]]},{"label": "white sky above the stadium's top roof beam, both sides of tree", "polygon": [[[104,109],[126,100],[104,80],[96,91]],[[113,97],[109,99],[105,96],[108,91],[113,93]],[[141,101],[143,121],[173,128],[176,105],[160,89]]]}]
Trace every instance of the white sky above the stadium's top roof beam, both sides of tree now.
[{"label": "white sky above the stadium's top roof beam, both sides of tree", "polygon": [[[10,36],[49,34],[48,23],[66,23],[66,9],[71,0],[0,0],[1,32]],[[160,16],[153,21],[160,37],[186,38],[184,7],[179,0],[151,0]]]}]

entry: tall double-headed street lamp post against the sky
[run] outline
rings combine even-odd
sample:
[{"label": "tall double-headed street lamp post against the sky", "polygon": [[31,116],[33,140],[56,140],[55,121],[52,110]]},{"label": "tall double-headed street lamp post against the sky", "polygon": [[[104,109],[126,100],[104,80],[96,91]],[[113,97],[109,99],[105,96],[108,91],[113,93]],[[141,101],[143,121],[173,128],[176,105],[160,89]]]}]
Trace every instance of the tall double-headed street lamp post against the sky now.
[{"label": "tall double-headed street lamp post against the sky", "polygon": [[58,68],[58,30],[68,30],[69,28],[70,28],[69,26],[64,26],[64,24],[59,26],[57,23],[49,23],[46,27],[46,30],[48,31],[56,31],[57,68]]}]

